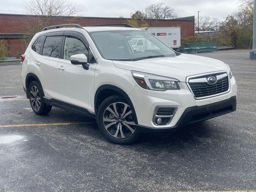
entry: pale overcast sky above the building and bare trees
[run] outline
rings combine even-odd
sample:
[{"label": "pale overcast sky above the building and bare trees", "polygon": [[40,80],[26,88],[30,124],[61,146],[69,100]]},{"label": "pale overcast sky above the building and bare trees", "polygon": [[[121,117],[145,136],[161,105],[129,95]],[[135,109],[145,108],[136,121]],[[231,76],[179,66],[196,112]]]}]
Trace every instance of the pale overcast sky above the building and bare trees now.
[{"label": "pale overcast sky above the building and bare trees", "polygon": [[[80,16],[130,17],[130,13],[142,10],[159,0],[72,0],[82,12]],[[162,0],[174,8],[179,17],[212,16],[223,18],[238,8],[237,0]],[[0,13],[24,14],[23,0],[1,0]]]}]

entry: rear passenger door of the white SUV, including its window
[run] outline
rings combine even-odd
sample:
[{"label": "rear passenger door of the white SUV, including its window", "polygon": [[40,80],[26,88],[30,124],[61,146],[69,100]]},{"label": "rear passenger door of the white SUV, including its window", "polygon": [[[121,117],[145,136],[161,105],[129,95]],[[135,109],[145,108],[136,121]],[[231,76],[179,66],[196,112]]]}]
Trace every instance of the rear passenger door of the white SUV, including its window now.
[{"label": "rear passenger door of the white SUV, including its window", "polygon": [[36,57],[35,64],[40,71],[40,81],[44,95],[48,98],[59,99],[57,66],[60,60],[61,44],[64,32],[46,34],[40,55]]}]

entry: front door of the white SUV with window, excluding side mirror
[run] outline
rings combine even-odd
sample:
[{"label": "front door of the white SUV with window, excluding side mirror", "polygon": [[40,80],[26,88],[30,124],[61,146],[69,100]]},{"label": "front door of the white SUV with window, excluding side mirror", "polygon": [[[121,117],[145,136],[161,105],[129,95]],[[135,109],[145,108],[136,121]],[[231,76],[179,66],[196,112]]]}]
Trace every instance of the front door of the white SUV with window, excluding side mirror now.
[{"label": "front door of the white SUV with window, excluding side mirror", "polygon": [[[94,74],[96,60],[89,44],[79,32],[64,32],[62,54],[58,64],[58,87],[60,100],[94,112]],[[82,65],[73,65],[70,56],[85,54],[90,67],[84,70]]]}]

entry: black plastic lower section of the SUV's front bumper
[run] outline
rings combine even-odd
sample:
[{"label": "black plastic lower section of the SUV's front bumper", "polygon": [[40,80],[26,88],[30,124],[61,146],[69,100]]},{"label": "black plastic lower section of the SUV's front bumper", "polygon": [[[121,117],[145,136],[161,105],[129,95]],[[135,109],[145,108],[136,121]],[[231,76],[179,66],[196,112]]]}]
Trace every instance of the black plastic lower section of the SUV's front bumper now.
[{"label": "black plastic lower section of the SUV's front bumper", "polygon": [[135,127],[140,131],[163,131],[172,130],[174,128],[186,126],[195,122],[204,121],[210,118],[214,118],[220,115],[224,115],[236,110],[236,96],[229,99],[219,101],[212,104],[203,106],[192,106],[184,110],[182,116],[178,120],[177,124],[172,127],[165,128],[153,128],[142,125],[136,125]]}]

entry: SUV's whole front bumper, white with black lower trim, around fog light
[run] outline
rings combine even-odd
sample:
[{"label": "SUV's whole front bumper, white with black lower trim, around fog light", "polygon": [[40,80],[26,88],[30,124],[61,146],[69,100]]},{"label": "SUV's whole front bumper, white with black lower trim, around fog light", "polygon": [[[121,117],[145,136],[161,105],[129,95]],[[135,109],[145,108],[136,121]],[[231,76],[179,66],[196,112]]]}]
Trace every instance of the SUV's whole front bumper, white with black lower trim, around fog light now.
[{"label": "SUV's whole front bumper, white with black lower trim, around fog light", "polygon": [[[137,126],[144,127],[148,129],[155,130],[166,130],[171,128],[176,128],[177,126],[184,125],[191,121],[188,119],[188,110],[193,111],[193,113],[202,113],[206,114],[208,112],[213,111],[213,114],[209,114],[208,117],[204,117],[202,120],[213,118],[215,116],[219,116],[225,114],[227,112],[214,112],[214,106],[218,106],[219,109],[224,109],[226,106],[226,102],[230,104],[229,99],[232,100],[232,110],[228,110],[228,112],[232,112],[236,110],[235,104],[236,102],[236,93],[237,93],[237,85],[234,77],[230,78],[230,91],[228,93],[214,96],[211,98],[205,98],[196,100],[188,86],[185,82],[179,82],[180,90],[166,90],[166,91],[152,91],[145,90],[140,86],[136,86],[132,92],[130,92],[129,97],[132,100],[134,110],[137,117]],[[221,104],[221,106],[220,106]],[[157,106],[176,106],[178,110],[176,111],[174,117],[171,122],[166,125],[157,126],[152,122],[152,117],[154,115],[154,110]],[[209,108],[210,109],[207,109]],[[196,111],[194,111],[196,109]],[[207,109],[207,110],[206,110]],[[209,111],[208,111],[209,110]],[[186,114],[186,121],[182,120],[184,118],[184,114]],[[192,112],[190,112],[192,113]],[[195,117],[193,117],[195,119]],[[198,120],[200,121],[200,120]],[[194,121],[196,122],[196,121]]]}]

